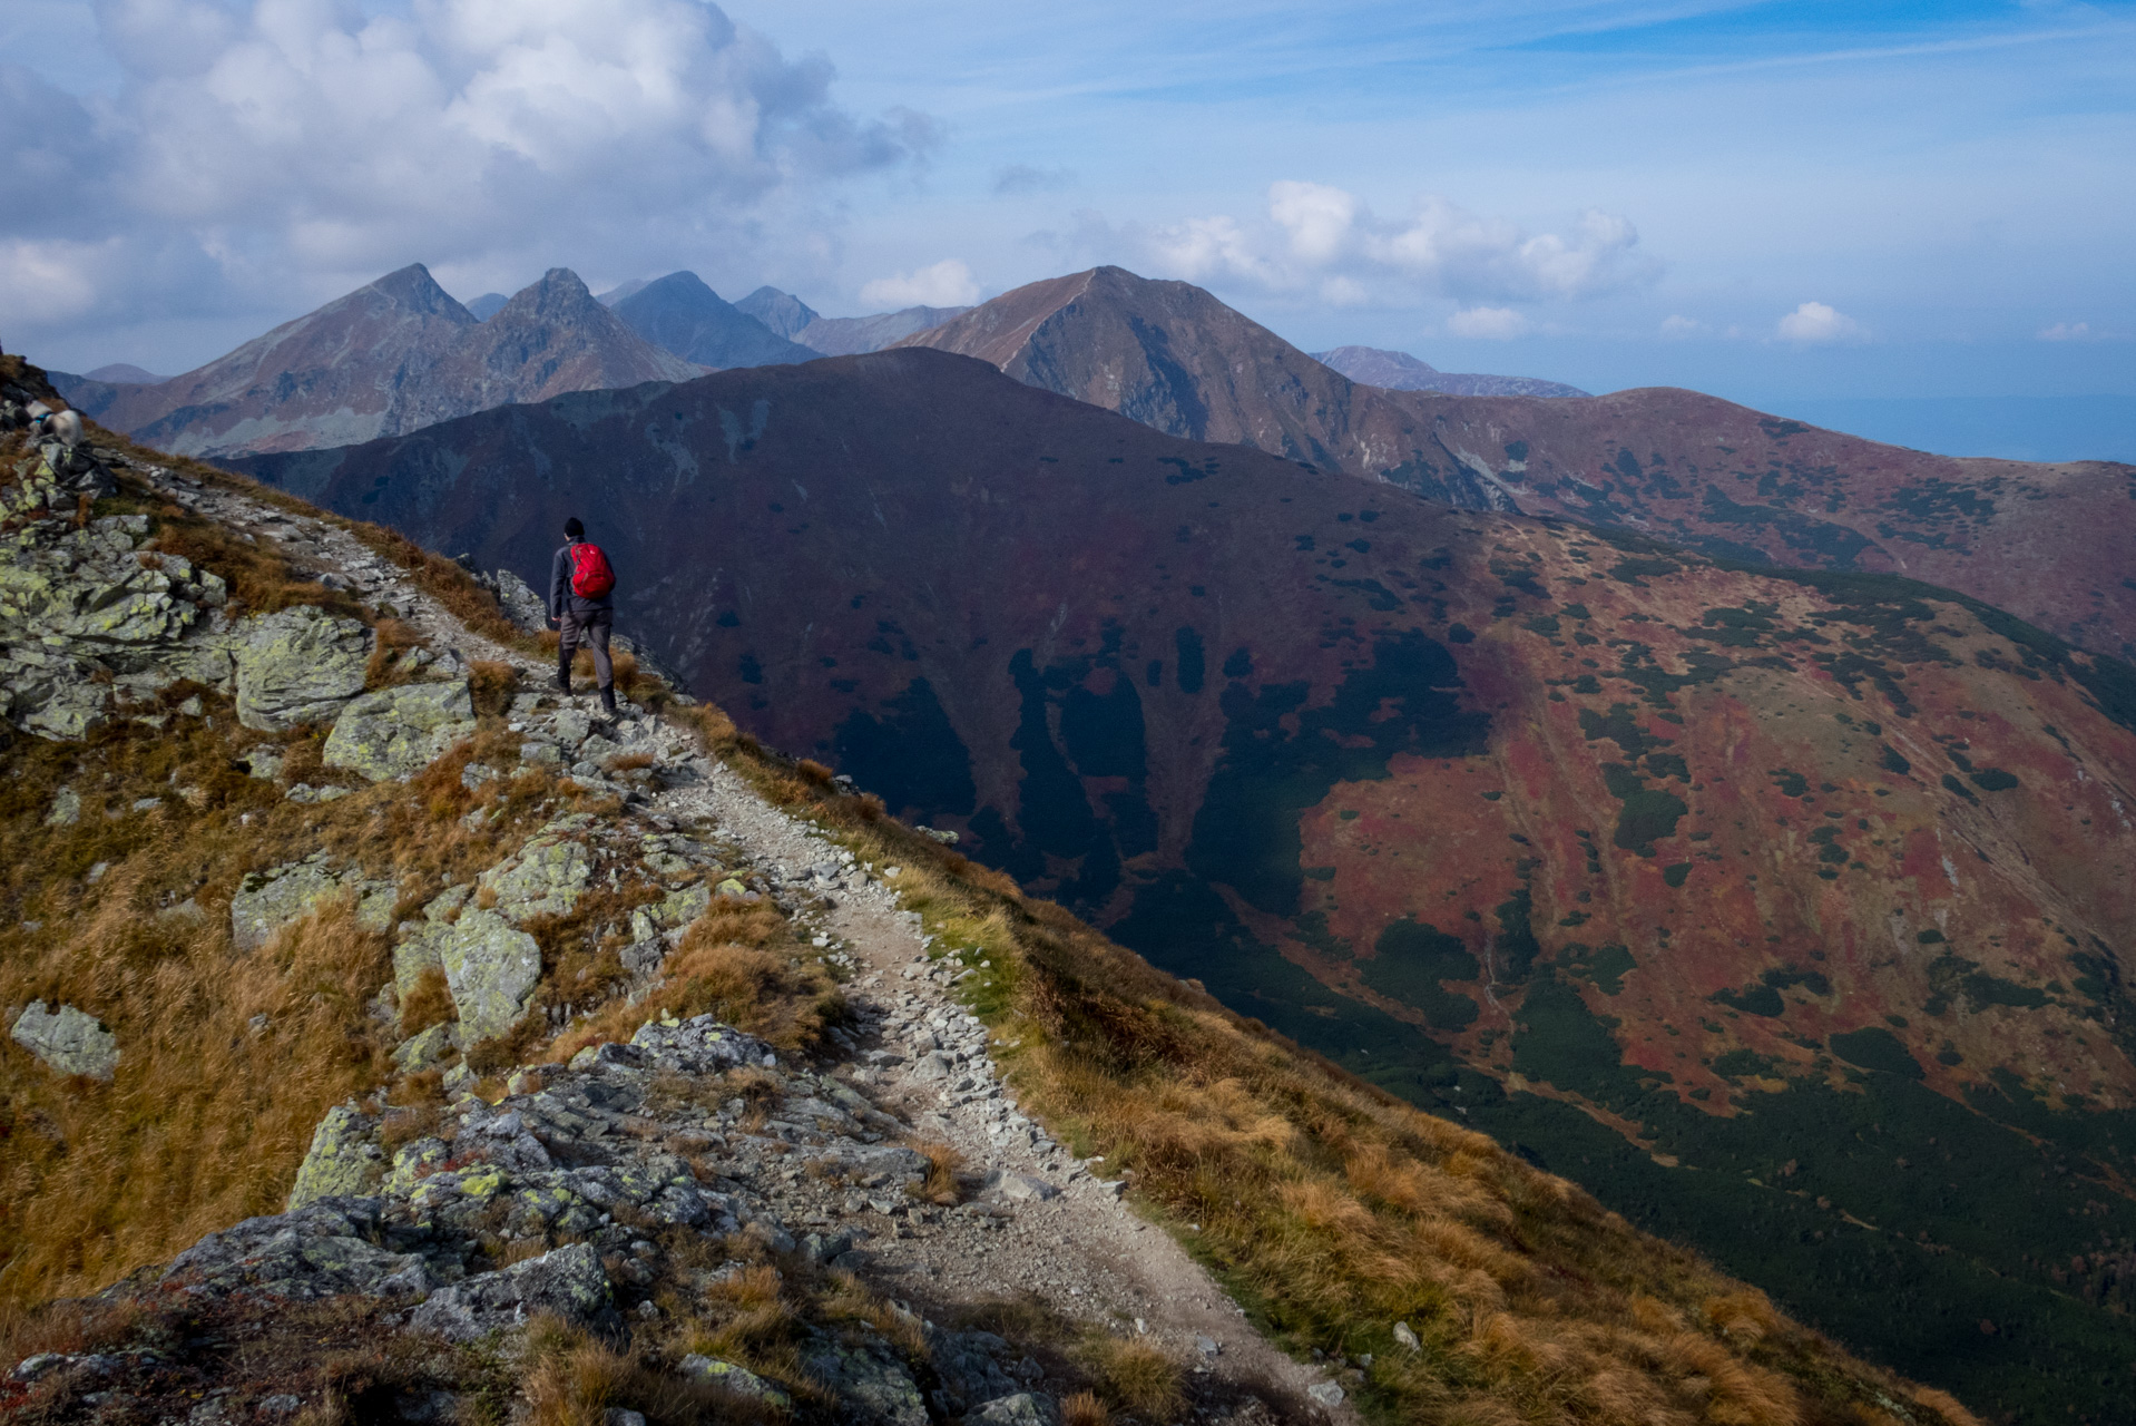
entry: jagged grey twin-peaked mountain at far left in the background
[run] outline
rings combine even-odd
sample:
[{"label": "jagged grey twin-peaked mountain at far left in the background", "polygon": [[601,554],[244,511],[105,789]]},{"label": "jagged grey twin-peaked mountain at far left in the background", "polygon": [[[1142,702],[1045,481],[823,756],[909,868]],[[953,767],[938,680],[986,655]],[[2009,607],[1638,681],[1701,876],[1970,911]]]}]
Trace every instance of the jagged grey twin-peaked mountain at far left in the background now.
[{"label": "jagged grey twin-peaked mountain at far left in the background", "polygon": [[68,404],[162,451],[233,455],[395,436],[562,391],[686,381],[568,269],[487,319],[414,263],[158,385],[62,387]]}]

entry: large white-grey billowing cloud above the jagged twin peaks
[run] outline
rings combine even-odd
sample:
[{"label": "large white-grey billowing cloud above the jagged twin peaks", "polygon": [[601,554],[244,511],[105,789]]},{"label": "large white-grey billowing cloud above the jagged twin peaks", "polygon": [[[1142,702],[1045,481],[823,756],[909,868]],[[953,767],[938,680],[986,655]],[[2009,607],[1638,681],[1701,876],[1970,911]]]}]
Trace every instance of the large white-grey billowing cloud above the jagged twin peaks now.
[{"label": "large white-grey billowing cloud above the jagged twin peaks", "polygon": [[[795,254],[829,227],[829,182],[912,165],[940,137],[910,111],[854,118],[827,60],[784,58],[707,0],[365,9],[105,0],[107,98],[0,73],[0,152],[45,173],[38,201],[0,212],[0,291],[94,282],[77,319],[120,323],[301,310],[410,261],[502,284],[560,261]],[[143,276],[26,250],[56,214],[88,214],[70,235],[120,242]],[[147,280],[173,244],[205,282]]]}]

